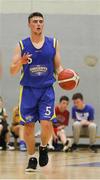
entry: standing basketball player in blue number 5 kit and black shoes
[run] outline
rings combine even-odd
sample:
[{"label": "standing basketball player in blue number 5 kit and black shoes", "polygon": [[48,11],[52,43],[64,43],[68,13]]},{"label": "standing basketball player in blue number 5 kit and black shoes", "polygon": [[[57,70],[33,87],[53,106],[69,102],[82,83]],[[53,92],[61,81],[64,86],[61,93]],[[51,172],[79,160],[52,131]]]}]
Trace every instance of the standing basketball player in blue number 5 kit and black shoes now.
[{"label": "standing basketball player in blue number 5 kit and black shoes", "polygon": [[20,80],[20,119],[25,125],[25,142],[28,150],[26,171],[37,167],[35,155],[34,127],[39,120],[41,125],[41,145],[39,147],[39,165],[48,163],[47,143],[52,134],[50,119],[54,114],[54,71],[59,74],[63,68],[59,44],[55,38],[43,34],[44,17],[34,12],[28,17],[31,35],[20,41],[15,48],[10,71],[12,75],[21,70]]}]

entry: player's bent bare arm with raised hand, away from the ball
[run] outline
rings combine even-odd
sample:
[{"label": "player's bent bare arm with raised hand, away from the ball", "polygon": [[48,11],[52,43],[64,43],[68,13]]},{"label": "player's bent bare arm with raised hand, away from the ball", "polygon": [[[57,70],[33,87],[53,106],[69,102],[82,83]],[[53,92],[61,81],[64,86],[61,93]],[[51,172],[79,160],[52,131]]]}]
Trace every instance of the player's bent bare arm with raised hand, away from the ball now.
[{"label": "player's bent bare arm with raised hand, away from the ball", "polygon": [[26,54],[24,53],[23,56],[21,56],[21,49],[20,49],[20,45],[18,44],[14,50],[12,63],[10,65],[10,73],[12,75],[17,74],[20,71],[22,65],[28,63],[29,58],[31,56],[32,55],[29,53]]}]

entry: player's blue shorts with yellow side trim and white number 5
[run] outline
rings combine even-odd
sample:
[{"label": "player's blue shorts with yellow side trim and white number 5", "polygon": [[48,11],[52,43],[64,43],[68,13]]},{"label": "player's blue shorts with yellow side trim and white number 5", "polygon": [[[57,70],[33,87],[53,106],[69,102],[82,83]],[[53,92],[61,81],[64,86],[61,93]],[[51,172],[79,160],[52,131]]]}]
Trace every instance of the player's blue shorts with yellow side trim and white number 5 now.
[{"label": "player's blue shorts with yellow side trim and white number 5", "polygon": [[55,93],[53,87],[36,89],[20,87],[20,124],[50,120],[54,115]]}]

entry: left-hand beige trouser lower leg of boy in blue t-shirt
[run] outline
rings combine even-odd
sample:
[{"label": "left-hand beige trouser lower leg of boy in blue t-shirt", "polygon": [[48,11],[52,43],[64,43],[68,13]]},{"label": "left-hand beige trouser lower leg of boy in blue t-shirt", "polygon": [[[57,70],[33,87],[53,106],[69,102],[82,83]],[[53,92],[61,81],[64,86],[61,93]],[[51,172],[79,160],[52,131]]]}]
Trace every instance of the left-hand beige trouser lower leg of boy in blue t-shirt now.
[{"label": "left-hand beige trouser lower leg of boy in blue t-shirt", "polygon": [[82,125],[79,121],[76,121],[73,123],[73,136],[74,136],[75,144],[78,144],[78,142],[79,142],[81,127],[82,127]]}]

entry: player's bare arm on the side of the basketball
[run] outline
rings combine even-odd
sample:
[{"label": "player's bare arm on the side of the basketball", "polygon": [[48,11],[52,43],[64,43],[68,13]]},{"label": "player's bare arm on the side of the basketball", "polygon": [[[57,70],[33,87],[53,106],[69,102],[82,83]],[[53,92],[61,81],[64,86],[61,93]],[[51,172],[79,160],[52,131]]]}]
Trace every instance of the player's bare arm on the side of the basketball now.
[{"label": "player's bare arm on the side of the basketball", "polygon": [[55,67],[55,72],[57,75],[63,70],[63,67],[61,65],[60,45],[59,45],[58,40],[56,43],[56,54],[54,57],[54,67]]}]

